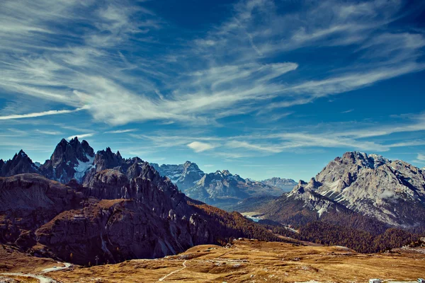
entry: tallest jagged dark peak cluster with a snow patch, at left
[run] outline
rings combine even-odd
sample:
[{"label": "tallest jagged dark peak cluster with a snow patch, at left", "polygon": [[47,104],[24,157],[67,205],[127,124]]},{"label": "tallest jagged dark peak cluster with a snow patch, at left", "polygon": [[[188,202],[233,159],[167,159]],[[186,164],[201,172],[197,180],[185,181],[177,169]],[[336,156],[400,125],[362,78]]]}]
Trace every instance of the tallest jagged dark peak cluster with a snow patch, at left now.
[{"label": "tallest jagged dark peak cluster with a snow patch, at left", "polygon": [[93,165],[94,150],[87,141],[80,143],[75,137],[69,142],[62,139],[50,159],[40,166],[40,170],[42,175],[51,180],[68,183],[74,178],[81,183]]}]

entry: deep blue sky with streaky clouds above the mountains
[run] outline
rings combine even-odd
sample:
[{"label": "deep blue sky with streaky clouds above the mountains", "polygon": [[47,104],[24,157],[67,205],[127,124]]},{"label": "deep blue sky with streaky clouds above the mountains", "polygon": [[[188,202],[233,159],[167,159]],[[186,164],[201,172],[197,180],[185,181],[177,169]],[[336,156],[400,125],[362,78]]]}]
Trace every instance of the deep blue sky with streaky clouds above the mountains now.
[{"label": "deep blue sky with streaky clouds above the mountains", "polygon": [[94,149],[308,180],[345,151],[425,166],[424,1],[0,4],[0,157]]}]

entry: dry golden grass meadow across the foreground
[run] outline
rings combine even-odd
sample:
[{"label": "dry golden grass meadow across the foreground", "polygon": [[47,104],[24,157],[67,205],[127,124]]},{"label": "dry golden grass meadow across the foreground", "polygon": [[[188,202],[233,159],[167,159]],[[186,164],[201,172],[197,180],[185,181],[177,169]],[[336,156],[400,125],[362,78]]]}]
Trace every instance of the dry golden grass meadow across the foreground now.
[{"label": "dry golden grass meadow across the foreground", "polygon": [[[186,267],[183,266],[186,265]],[[171,272],[171,275],[169,275]],[[231,248],[196,246],[157,260],[52,272],[60,282],[368,282],[370,278],[416,280],[425,255],[365,255],[341,247],[236,241]]]}]

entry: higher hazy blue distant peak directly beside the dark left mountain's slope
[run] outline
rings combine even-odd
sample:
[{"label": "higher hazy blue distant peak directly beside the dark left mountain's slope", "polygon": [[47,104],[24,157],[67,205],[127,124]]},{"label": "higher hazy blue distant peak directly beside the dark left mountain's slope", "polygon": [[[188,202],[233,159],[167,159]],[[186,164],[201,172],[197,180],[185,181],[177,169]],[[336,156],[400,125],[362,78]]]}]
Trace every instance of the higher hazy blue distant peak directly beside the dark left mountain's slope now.
[{"label": "higher hazy blue distant peak directly beside the dark left mountain's slope", "polygon": [[179,165],[162,164],[162,166],[159,166],[157,163],[150,164],[160,175],[170,178],[171,182],[175,183],[183,192],[189,187],[193,187],[205,175],[198,165],[191,161]]}]

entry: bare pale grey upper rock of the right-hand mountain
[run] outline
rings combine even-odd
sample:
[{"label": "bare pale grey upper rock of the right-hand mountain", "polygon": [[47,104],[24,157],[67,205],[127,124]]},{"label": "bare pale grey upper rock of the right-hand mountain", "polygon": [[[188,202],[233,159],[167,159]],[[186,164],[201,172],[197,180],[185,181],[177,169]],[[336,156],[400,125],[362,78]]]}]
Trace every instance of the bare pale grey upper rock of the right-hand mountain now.
[{"label": "bare pale grey upper rock of the right-hand mountain", "polygon": [[394,226],[415,226],[421,221],[413,211],[425,206],[425,175],[407,162],[346,152],[331,161],[315,180],[315,192],[354,212]]}]

